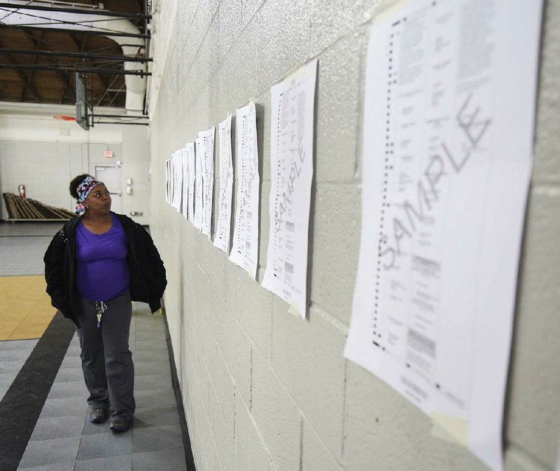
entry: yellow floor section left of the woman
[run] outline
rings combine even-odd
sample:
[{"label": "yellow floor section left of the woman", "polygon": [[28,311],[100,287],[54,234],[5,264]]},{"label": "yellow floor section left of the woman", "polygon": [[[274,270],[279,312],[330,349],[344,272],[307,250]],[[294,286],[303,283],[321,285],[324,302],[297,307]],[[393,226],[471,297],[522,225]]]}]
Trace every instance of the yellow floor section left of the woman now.
[{"label": "yellow floor section left of the woman", "polygon": [[38,339],[55,316],[45,277],[0,276],[0,340]]}]

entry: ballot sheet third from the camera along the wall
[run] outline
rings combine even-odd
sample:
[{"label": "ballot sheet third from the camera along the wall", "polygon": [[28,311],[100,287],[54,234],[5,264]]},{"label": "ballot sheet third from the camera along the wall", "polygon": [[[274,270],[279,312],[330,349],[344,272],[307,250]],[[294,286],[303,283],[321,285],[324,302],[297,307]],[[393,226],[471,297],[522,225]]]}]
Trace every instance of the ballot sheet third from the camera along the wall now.
[{"label": "ballot sheet third from the camera along the wall", "polygon": [[230,260],[256,279],[258,263],[259,175],[255,104],[236,111],[237,205]]}]

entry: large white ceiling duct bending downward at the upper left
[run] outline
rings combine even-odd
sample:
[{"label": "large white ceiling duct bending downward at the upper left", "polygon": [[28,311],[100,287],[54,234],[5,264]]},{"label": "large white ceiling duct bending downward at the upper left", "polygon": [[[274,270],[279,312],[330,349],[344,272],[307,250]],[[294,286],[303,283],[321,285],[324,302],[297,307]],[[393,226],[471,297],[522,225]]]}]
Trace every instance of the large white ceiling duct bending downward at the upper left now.
[{"label": "large white ceiling duct bending downward at the upper left", "polygon": [[[18,8],[27,6],[32,8],[34,5],[43,6],[40,2],[22,1],[22,0],[8,0],[4,2],[9,4],[9,9],[13,9],[13,13],[5,15],[2,19],[4,24],[10,26],[19,25],[40,25],[45,29],[59,29],[62,25],[64,29],[70,31],[95,31],[97,34],[103,34],[111,38],[123,49],[123,55],[132,55],[140,57],[145,55],[144,38],[138,28],[129,20],[115,19],[102,13],[97,13],[98,8],[91,10],[91,13],[69,13],[62,11],[43,11],[43,10],[21,10]],[[62,5],[64,2],[57,2]],[[66,3],[71,6],[71,3]],[[81,10],[84,10],[81,8]],[[6,11],[3,8],[0,11]],[[30,16],[33,15],[33,16]],[[52,24],[45,24],[47,21],[52,21]],[[61,23],[62,22],[62,23]],[[80,24],[76,24],[80,23]],[[101,33],[99,33],[101,31]],[[116,36],[111,34],[126,34],[127,36]],[[135,64],[134,62],[125,62],[124,69],[127,71],[137,71],[139,69],[146,71],[146,64]],[[143,113],[144,111],[144,97],[146,96],[146,77],[125,75],[125,83],[127,86],[126,104],[125,108],[131,114]]]}]

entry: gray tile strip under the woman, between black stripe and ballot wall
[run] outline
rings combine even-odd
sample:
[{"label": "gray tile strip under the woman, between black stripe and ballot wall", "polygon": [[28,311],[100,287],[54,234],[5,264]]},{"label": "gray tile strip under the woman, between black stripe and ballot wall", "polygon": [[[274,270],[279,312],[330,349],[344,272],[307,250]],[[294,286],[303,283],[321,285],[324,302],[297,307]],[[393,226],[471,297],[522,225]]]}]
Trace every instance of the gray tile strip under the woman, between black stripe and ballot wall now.
[{"label": "gray tile strip under the woman, between black stripe and ballot wall", "polygon": [[[137,339],[146,335],[149,344]],[[187,469],[162,316],[152,316],[144,304],[134,303],[130,346],[137,398],[132,430],[116,435],[109,422],[87,421],[87,391],[74,335],[18,470]]]}]

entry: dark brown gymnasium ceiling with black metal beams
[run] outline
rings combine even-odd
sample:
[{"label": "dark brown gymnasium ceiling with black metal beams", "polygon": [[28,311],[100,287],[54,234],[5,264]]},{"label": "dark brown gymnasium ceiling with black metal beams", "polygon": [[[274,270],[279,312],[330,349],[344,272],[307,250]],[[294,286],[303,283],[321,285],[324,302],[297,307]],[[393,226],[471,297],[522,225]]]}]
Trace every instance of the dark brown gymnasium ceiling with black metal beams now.
[{"label": "dark brown gymnasium ceiling with black metal beams", "polygon": [[[132,14],[124,18],[115,17],[115,22],[110,24],[118,24],[123,19],[129,20],[139,29],[139,34],[149,36],[149,20],[146,17],[148,1],[25,1],[20,2],[20,5],[29,3],[45,8],[41,11],[46,19],[38,19],[37,16],[43,18],[43,13],[38,13],[37,10],[20,8],[16,13],[34,15],[29,16],[29,23],[36,23],[32,27],[16,27],[8,24],[7,19],[14,14],[14,2],[0,0],[0,101],[76,104],[75,73],[85,70],[87,72],[83,72],[83,75],[87,76],[88,105],[124,108],[125,76],[116,73],[123,72],[121,46],[104,36],[106,30],[102,29],[53,31],[52,26],[65,29],[65,25],[52,25],[52,20],[48,18],[55,15],[53,8],[78,9],[79,12],[87,9],[88,14],[97,15],[108,12]],[[45,23],[52,26],[45,27]],[[141,41],[148,45],[148,38],[141,38]],[[127,38],[124,42],[127,42]],[[60,55],[53,55],[52,52]],[[127,55],[127,59],[131,57]],[[134,60],[141,58],[137,55]],[[134,64],[139,64],[140,69],[141,62]]]}]

